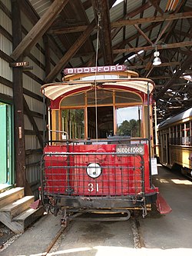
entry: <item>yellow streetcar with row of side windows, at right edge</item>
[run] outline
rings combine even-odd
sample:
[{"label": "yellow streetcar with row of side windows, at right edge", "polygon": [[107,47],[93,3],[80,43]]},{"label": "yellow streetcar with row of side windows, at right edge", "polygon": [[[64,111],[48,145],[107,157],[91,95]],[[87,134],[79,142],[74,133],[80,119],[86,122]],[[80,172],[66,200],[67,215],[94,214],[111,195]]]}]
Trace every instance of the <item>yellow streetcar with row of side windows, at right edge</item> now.
[{"label": "yellow streetcar with row of side windows, at right edge", "polygon": [[157,128],[157,157],[167,168],[192,178],[192,108],[162,121]]}]

